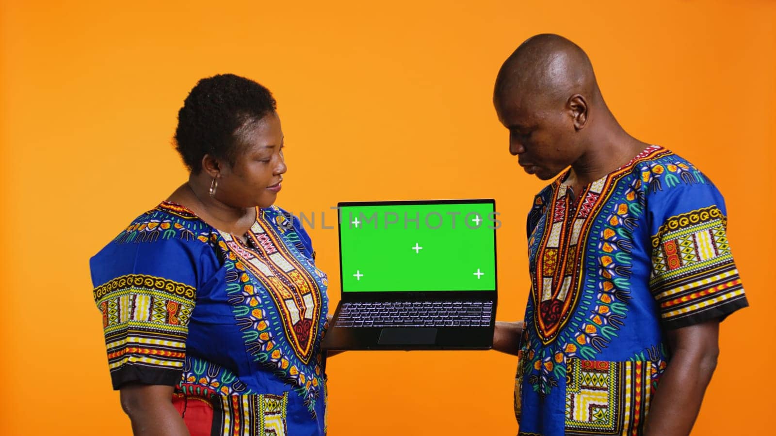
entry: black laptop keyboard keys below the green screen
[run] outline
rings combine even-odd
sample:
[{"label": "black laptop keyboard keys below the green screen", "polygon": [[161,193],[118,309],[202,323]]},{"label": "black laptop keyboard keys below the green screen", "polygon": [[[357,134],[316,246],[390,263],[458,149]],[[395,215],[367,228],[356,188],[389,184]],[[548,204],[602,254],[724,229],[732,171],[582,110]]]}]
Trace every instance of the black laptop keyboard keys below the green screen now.
[{"label": "black laptop keyboard keys below the green screen", "polygon": [[342,303],[336,327],[490,327],[492,301]]}]

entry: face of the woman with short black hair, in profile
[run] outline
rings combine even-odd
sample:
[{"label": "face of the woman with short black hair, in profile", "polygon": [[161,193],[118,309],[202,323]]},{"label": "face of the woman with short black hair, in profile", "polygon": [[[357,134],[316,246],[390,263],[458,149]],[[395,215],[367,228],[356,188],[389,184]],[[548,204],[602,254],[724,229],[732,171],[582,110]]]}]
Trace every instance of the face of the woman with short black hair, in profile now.
[{"label": "face of the woman with short black hair, in profile", "polygon": [[241,142],[237,158],[234,165],[224,165],[216,196],[234,207],[272,206],[287,169],[278,114],[248,122],[236,135]]}]

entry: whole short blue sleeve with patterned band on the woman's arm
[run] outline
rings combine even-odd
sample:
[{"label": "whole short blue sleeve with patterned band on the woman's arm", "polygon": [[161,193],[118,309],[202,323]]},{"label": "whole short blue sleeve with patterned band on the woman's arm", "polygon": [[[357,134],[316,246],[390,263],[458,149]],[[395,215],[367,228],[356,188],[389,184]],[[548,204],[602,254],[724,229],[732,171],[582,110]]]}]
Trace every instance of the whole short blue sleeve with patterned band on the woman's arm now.
[{"label": "whole short blue sleeve with patterned band on the woman's arm", "polygon": [[92,258],[113,389],[180,382],[196,300],[197,244],[114,241]]}]

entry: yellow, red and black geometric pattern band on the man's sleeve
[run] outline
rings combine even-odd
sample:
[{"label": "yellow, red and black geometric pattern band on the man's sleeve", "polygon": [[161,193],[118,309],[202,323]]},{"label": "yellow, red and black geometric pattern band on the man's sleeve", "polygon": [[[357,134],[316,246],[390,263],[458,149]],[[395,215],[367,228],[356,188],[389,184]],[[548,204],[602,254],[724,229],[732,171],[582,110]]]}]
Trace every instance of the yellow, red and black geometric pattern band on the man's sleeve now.
[{"label": "yellow, red and black geometric pattern band on the man's sleeve", "polygon": [[671,216],[652,237],[650,289],[667,328],[722,317],[746,306],[717,206]]}]

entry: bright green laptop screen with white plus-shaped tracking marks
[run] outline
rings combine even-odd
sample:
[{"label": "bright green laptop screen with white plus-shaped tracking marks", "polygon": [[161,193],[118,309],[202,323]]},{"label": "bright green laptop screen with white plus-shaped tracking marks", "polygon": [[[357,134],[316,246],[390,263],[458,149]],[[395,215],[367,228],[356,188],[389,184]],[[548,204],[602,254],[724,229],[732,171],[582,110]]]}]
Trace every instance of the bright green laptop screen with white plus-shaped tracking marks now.
[{"label": "bright green laptop screen with white plus-shaped tracking marks", "polygon": [[493,291],[493,202],[340,206],[343,292]]}]

